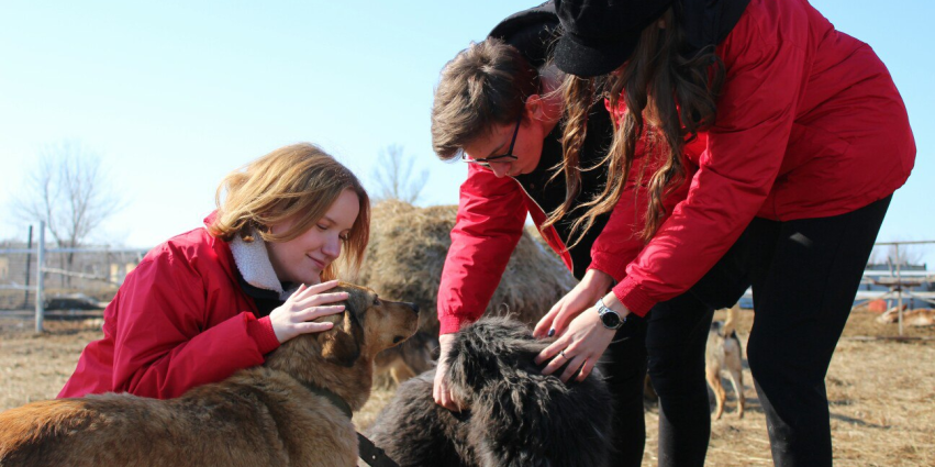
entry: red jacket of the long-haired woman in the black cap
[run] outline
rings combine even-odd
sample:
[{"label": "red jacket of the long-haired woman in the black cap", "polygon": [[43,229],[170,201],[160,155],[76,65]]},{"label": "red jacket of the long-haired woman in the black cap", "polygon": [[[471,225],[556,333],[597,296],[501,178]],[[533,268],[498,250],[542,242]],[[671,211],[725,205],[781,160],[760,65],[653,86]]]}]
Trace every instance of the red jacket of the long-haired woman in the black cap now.
[{"label": "red jacket of the long-haired woman in the black cap", "polygon": [[[905,105],[865,43],[805,0],[753,0],[717,46],[726,80],[687,197],[637,255],[606,270],[644,315],[688,290],[754,216],[844,214],[901,187],[915,160]],[[632,190],[608,224],[630,224]],[[602,269],[603,270],[603,269]]]}]

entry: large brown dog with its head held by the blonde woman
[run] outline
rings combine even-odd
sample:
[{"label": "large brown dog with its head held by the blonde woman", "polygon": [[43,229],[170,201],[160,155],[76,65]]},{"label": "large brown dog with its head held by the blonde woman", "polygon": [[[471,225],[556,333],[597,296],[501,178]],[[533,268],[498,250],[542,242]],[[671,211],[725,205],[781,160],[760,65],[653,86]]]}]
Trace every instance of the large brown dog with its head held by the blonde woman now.
[{"label": "large brown dog with its head held by the blonde woman", "polygon": [[370,396],[374,357],[418,327],[410,303],[343,283],[331,331],[282,344],[261,367],[170,400],[107,393],[0,414],[0,466],[355,466],[349,410]]}]

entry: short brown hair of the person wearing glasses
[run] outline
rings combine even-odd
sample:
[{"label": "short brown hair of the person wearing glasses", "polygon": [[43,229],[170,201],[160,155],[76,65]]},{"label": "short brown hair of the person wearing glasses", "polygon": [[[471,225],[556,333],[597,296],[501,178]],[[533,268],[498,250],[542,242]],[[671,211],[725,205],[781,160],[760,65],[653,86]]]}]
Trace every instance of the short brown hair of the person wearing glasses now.
[{"label": "short brown hair of the person wearing glasses", "polygon": [[538,92],[538,74],[520,52],[487,38],[459,52],[442,69],[432,104],[432,147],[442,159],[465,144],[522,115],[526,98]]}]

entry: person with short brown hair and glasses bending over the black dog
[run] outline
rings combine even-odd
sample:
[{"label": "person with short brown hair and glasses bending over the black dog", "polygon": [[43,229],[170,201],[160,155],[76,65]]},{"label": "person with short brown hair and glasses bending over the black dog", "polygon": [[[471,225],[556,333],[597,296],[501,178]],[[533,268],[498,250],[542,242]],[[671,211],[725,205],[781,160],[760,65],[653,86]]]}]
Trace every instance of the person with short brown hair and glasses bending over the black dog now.
[{"label": "person with short brown hair and glasses bending over the black dog", "polygon": [[[566,202],[568,189],[576,193],[574,202],[583,203],[597,194],[605,175],[602,169],[581,171],[580,184],[570,188],[560,174],[555,176],[555,167],[563,160],[563,101],[555,92],[561,78],[546,57],[557,25],[552,2],[516,13],[442,70],[432,110],[433,145],[442,159],[459,157],[469,164],[438,289],[443,352],[452,333],[487,309],[527,214],[542,226],[542,236],[576,278],[600,283],[598,288],[604,292],[612,283],[600,268],[617,255],[621,244],[619,234],[601,233],[606,215],[598,216],[577,241],[570,236],[569,222],[544,225],[548,213]],[[582,166],[600,164],[612,130],[603,103],[593,105],[580,146]],[[611,443],[620,453],[617,465],[623,466],[639,465],[645,442],[642,326],[642,320],[623,326],[602,364],[615,397],[614,407],[608,408],[615,412]],[[612,355],[621,355],[625,362],[614,362]],[[445,362],[438,365],[435,401],[459,410],[444,379]]]}]

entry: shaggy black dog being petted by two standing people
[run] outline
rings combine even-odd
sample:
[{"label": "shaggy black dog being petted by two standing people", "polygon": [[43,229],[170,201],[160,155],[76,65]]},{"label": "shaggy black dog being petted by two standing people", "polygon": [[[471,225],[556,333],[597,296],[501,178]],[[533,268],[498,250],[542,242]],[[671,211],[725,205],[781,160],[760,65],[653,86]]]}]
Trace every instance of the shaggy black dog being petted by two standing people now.
[{"label": "shaggy black dog being petted by two standing people", "polygon": [[609,465],[606,385],[597,368],[569,385],[543,376],[533,358],[546,345],[503,318],[465,327],[442,357],[470,410],[435,404],[430,370],[399,387],[368,435],[400,466]]}]

